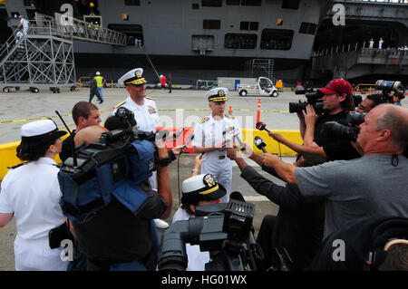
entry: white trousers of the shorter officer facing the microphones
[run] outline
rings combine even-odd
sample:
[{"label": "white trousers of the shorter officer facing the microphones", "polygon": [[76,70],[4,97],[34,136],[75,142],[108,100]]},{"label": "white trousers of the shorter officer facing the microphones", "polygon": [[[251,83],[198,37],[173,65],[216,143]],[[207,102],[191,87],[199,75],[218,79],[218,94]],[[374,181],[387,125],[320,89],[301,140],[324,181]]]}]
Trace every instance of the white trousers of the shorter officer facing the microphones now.
[{"label": "white trousers of the shorter officer facing the microphones", "polygon": [[231,159],[228,159],[228,157],[225,157],[225,159],[219,159],[219,157],[216,156],[208,156],[201,164],[201,174],[211,174],[217,182],[227,190],[227,194],[224,197],[221,197],[221,202],[228,203],[232,184]]}]

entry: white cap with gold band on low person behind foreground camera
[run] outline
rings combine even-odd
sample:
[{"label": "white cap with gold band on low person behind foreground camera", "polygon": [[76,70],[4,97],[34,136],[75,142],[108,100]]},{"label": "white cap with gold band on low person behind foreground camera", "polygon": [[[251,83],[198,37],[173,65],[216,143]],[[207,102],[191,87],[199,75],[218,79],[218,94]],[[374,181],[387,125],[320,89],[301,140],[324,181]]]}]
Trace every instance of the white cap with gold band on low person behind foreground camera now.
[{"label": "white cap with gold band on low person behind foreground camera", "polygon": [[197,204],[199,201],[219,199],[227,191],[210,174],[201,174],[187,178],[182,185],[181,204]]}]

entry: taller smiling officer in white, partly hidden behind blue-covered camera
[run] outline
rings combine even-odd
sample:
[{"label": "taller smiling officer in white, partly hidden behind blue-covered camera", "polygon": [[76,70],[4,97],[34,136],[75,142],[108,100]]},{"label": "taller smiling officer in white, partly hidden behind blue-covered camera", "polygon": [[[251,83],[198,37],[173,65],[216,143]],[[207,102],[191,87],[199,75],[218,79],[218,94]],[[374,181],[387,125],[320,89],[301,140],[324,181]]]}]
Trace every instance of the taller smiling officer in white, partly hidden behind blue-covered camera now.
[{"label": "taller smiling officer in white, partly hidden behind blue-covered camera", "polygon": [[[126,72],[118,80],[118,83],[120,85],[125,85],[126,90],[129,92],[128,98],[119,107],[124,107],[133,111],[134,119],[136,120],[136,129],[156,132],[159,113],[156,107],[156,102],[146,97],[146,80],[143,77],[143,69],[135,68],[130,72]],[[113,114],[116,113],[118,108],[115,108]],[[157,189],[155,172],[153,172],[149,181],[151,183],[151,188]],[[155,219],[154,222],[159,228],[167,228],[169,226],[169,224],[160,219]]]}]

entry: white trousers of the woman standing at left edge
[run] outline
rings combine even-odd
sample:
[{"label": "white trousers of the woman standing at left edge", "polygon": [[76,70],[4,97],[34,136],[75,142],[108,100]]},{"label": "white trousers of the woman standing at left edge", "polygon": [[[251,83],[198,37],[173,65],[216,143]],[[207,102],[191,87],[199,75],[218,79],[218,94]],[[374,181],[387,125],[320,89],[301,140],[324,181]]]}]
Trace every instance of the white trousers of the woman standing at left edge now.
[{"label": "white trousers of the woman standing at left edge", "polygon": [[61,260],[63,248],[51,249],[48,237],[24,240],[15,237],[16,271],[66,271],[68,261]]}]

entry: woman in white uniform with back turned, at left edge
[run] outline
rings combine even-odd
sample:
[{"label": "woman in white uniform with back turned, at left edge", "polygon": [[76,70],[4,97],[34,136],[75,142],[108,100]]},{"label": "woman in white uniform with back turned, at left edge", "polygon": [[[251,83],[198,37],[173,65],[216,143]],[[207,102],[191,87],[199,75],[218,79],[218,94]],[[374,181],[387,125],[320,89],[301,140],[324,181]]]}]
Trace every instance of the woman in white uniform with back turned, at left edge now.
[{"label": "woman in white uniform with back turned, at left edge", "polygon": [[21,129],[22,141],[17,157],[28,161],[10,169],[2,182],[0,227],[13,217],[15,269],[17,271],[66,271],[62,248],[50,249],[48,233],[65,222],[59,205],[62,197],[58,167],[53,159],[61,152],[66,131],[58,130],[53,120],[37,120]]}]

